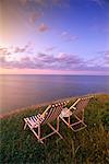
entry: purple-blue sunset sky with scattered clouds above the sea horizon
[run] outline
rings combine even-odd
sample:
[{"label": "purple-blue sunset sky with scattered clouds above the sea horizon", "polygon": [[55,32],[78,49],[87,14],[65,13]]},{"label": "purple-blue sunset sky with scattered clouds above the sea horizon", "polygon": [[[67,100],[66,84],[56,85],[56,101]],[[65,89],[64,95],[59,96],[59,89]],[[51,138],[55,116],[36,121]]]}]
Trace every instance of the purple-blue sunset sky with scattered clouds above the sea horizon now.
[{"label": "purple-blue sunset sky with scattered clouds above the sea horizon", "polygon": [[0,74],[109,75],[109,0],[1,0]]}]

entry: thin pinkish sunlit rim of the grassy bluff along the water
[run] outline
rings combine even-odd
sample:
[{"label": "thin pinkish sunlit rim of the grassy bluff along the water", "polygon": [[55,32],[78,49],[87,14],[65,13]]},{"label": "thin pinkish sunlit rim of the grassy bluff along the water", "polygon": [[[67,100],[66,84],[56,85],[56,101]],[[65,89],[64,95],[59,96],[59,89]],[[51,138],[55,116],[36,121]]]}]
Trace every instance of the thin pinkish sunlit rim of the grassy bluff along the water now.
[{"label": "thin pinkish sunlit rim of the grassy bluff along the water", "polygon": [[49,105],[49,104],[55,104],[57,102],[71,101],[71,99],[75,99],[75,98],[80,98],[80,97],[86,97],[86,96],[97,96],[97,95],[101,95],[101,94],[107,94],[107,93],[94,93],[94,94],[92,93],[92,94],[86,94],[86,95],[59,98],[57,101],[50,101],[50,102],[39,103],[39,104],[36,104],[36,105],[29,105],[29,106],[26,106],[26,107],[13,109],[13,110],[8,112],[5,114],[0,114],[0,119],[3,119],[5,117],[10,117],[11,115],[15,115],[15,114],[22,113],[24,110],[27,110],[28,108],[29,109],[34,109],[34,108],[44,107],[44,106]]}]

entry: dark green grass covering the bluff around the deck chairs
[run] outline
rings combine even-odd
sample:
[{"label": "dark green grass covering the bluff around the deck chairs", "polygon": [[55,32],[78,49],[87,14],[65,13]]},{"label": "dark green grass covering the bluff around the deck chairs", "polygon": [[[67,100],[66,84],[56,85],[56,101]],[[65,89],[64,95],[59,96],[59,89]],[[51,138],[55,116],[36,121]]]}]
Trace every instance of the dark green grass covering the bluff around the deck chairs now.
[{"label": "dark green grass covering the bluff around the deck chairs", "polygon": [[[70,102],[71,103],[71,102]],[[46,107],[45,107],[46,108]],[[24,117],[41,110],[26,109],[0,121],[1,164],[108,164],[109,163],[109,95],[97,95],[85,109],[87,128],[73,132],[60,124],[64,140],[52,136],[38,143]],[[44,127],[44,130],[49,128]]]}]

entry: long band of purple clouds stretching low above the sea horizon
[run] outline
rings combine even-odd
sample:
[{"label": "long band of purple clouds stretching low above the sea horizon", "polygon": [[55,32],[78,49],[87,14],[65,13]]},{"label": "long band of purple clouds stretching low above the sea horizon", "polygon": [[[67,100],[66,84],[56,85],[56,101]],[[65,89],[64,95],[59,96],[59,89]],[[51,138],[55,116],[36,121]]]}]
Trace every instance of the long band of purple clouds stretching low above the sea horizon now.
[{"label": "long band of purple clouds stretching low above the sea horizon", "polygon": [[[14,55],[17,52],[26,52],[27,45],[23,48],[13,48]],[[22,57],[21,59],[9,60],[8,48],[0,47],[0,67],[7,69],[50,69],[64,71],[106,71],[109,72],[109,50],[104,51],[99,58],[90,58],[85,60],[77,55],[59,52],[58,55],[49,55],[39,52],[36,56]],[[9,57],[9,56],[8,56]]]}]

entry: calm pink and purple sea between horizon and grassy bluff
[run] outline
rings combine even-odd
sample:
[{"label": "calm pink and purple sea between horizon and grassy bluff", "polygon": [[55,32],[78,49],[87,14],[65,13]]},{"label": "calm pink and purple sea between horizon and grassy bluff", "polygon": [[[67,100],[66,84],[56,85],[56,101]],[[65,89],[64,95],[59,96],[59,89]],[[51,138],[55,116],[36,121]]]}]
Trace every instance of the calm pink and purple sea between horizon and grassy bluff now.
[{"label": "calm pink and purple sea between horizon and grassy bluff", "polygon": [[0,75],[0,114],[58,98],[109,93],[105,75]]}]

